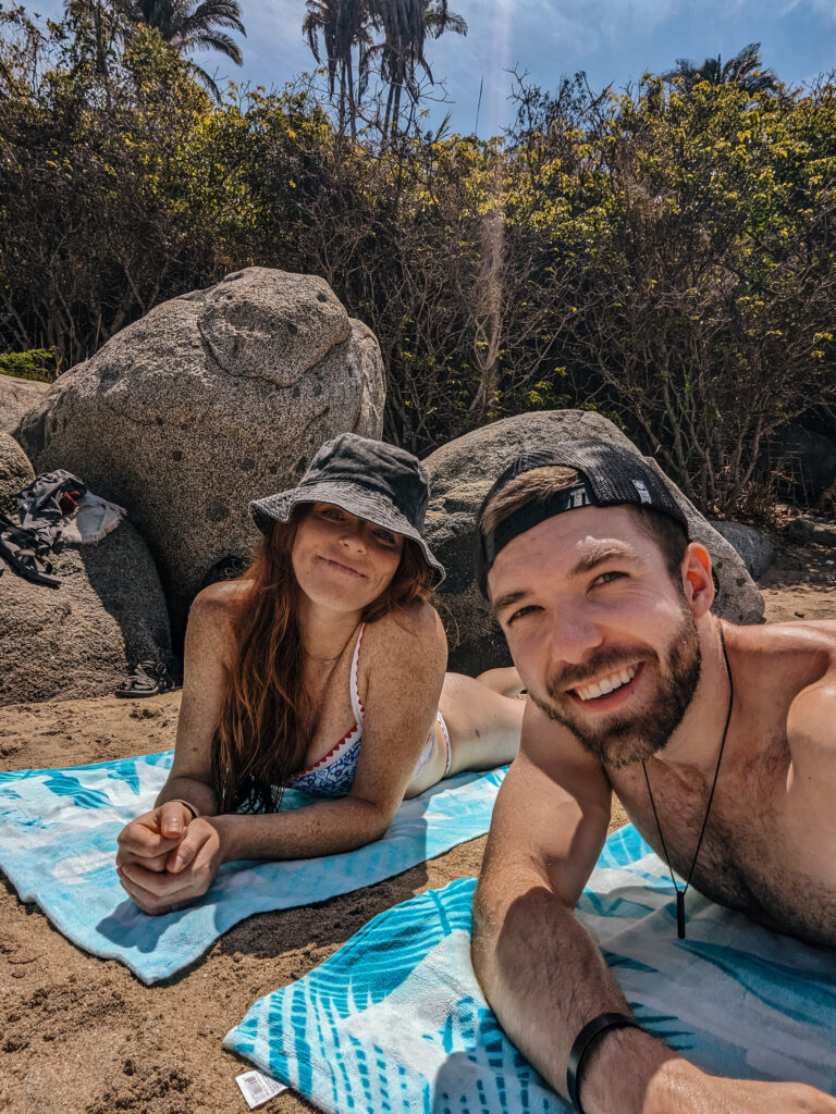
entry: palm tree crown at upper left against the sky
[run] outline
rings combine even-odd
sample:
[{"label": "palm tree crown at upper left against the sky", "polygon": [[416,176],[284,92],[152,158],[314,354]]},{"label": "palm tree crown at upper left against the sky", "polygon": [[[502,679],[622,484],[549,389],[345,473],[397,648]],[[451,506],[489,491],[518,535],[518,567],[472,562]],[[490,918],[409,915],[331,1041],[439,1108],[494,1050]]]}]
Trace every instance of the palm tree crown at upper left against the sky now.
[{"label": "palm tree crown at upper left against the sky", "polygon": [[[241,22],[239,0],[118,0],[120,11],[132,23],[155,27],[166,42],[182,53],[189,50],[218,50],[236,66],[243,62],[241,47],[220,27],[240,31],[246,38]],[[214,80],[196,62],[191,62],[195,76],[220,100]]]}]

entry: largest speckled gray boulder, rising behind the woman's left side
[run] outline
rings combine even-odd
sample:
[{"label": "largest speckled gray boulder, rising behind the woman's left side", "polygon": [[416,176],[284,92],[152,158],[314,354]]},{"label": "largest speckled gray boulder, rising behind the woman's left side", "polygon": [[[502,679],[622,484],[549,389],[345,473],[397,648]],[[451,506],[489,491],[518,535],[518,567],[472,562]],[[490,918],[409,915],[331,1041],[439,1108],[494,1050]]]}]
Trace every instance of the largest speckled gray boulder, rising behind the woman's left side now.
[{"label": "largest speckled gray boulder, rising behind the woman's left side", "polygon": [[36,471],[128,508],[179,635],[207,570],[257,538],[247,501],[337,433],[379,437],[385,392],[377,340],[322,278],[249,267],[124,329],[16,437]]}]

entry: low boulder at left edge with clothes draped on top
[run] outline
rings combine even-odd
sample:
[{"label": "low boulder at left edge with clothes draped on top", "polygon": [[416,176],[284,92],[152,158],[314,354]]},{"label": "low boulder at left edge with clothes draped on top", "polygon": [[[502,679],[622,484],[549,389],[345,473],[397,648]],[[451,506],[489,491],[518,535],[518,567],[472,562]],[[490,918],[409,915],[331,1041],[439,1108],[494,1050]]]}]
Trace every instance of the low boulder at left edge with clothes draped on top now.
[{"label": "low boulder at left edge with clothes draped on top", "polygon": [[147,658],[176,672],[159,577],[129,522],[52,563],[59,588],[2,566],[0,705],[103,696]]}]

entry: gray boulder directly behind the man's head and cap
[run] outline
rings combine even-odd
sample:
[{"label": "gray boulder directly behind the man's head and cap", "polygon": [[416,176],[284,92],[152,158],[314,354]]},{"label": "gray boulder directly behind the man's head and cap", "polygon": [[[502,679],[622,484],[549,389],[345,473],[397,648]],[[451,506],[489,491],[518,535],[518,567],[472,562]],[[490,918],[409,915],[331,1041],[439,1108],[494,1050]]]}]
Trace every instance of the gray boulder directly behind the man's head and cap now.
[{"label": "gray boulder directly behind the man's head and cap", "polygon": [[[422,461],[429,472],[432,496],[427,509],[426,537],[447,569],[447,579],[439,594],[450,642],[449,668],[475,675],[511,662],[505,638],[490,618],[474,580],[473,525],[488,488],[522,451],[555,439],[589,437],[616,444],[632,443],[600,414],[577,410],[539,411],[505,418],[474,430]],[[649,462],[655,467],[653,461]],[[713,610],[735,623],[762,622],[764,599],[740,557],[679,488],[668,482],[688,516],[691,538],[701,541],[711,554],[719,582]]]}]

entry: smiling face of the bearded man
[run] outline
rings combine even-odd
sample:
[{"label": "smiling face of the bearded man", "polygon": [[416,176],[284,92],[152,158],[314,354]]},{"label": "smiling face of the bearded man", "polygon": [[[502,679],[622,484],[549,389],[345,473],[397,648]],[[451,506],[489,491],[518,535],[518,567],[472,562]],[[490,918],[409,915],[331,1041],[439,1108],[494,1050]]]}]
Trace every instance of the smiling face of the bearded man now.
[{"label": "smiling face of the bearded man", "polygon": [[488,590],[531,698],[600,762],[660,750],[700,676],[681,585],[624,507],[547,518],[498,555]]}]

